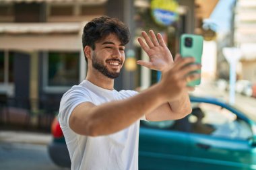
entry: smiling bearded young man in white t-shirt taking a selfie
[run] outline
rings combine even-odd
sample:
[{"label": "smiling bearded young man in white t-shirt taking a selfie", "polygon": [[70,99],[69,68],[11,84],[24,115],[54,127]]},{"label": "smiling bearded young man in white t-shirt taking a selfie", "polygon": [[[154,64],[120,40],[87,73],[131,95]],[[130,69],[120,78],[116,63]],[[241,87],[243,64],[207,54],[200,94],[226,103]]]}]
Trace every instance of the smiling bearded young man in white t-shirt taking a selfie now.
[{"label": "smiling bearded young man in white t-shirt taking a selfie", "polygon": [[[137,169],[139,120],[183,118],[191,113],[188,75],[199,69],[193,58],[172,60],[160,34],[142,32],[141,48],[150,61],[137,64],[162,71],[162,79],[141,93],[116,91],[114,79],[125,62],[129,30],[118,19],[99,17],[84,27],[86,80],[61,99],[59,122],[71,158],[71,169]],[[145,40],[145,42],[143,41]]]}]

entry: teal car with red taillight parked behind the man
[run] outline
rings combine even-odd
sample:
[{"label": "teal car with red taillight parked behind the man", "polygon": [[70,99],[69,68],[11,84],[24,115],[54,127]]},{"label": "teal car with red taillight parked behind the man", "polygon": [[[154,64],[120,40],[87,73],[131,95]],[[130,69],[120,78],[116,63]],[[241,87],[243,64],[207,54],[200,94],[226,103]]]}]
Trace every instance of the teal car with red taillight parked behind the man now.
[{"label": "teal car with red taillight parked behind the man", "polygon": [[[256,121],[224,101],[191,97],[193,112],[181,120],[141,121],[139,169],[256,169]],[[49,153],[70,167],[59,123]]]}]

